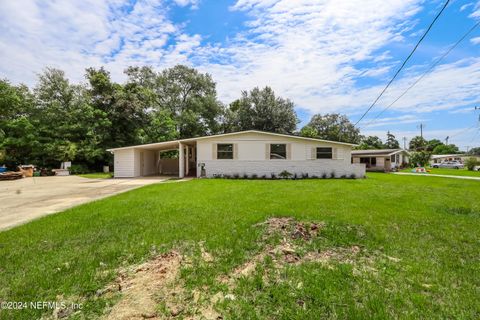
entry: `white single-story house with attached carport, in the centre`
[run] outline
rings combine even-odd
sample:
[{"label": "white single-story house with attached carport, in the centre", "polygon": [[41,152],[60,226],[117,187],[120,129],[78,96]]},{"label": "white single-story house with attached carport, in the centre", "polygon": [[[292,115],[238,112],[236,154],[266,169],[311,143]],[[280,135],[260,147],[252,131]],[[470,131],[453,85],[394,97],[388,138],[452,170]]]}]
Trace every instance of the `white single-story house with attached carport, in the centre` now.
[{"label": "white single-story house with attached carport, in the centre", "polygon": [[[350,161],[354,145],[344,142],[248,130],[190,139],[108,149],[114,177],[175,174],[215,177],[256,175],[270,178],[282,171],[336,177],[365,176],[365,164]],[[178,150],[178,158],[162,158]]]}]

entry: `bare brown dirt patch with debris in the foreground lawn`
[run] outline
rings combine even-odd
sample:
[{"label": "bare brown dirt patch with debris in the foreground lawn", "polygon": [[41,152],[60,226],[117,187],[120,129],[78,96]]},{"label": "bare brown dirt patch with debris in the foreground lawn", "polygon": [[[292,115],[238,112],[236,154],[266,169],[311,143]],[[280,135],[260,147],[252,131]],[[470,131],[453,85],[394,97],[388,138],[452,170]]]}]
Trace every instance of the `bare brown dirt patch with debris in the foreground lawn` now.
[{"label": "bare brown dirt patch with debris in the foreground lawn", "polygon": [[[205,249],[204,242],[189,244],[183,250],[170,251],[139,266],[120,270],[117,280],[97,293],[98,296],[119,297],[105,319],[223,319],[215,306],[225,300],[235,300],[233,293],[239,279],[252,276],[267,258],[271,265],[264,269],[265,279],[287,266],[309,262],[328,267],[334,262],[355,264],[357,261],[362,266],[354,272],[368,271],[368,266],[363,265],[370,265],[370,258],[360,246],[312,249],[315,247],[312,242],[322,235],[325,223],[270,218],[254,227],[263,228],[262,250],[229,274],[216,278],[220,287],[226,285],[226,290],[219,292],[218,287],[186,289],[180,276],[182,268],[192,269],[198,266],[196,263],[208,265],[218,261],[215,254]],[[196,255],[193,247],[197,248]]]}]

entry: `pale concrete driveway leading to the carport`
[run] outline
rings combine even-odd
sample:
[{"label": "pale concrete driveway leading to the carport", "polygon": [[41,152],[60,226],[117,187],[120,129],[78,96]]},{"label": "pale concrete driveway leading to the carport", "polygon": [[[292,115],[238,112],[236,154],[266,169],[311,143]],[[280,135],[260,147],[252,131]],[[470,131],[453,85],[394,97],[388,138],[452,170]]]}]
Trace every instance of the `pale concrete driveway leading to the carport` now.
[{"label": "pale concrete driveway leading to the carport", "polygon": [[168,179],[168,177],[87,179],[67,176],[0,181],[0,230],[82,203]]}]

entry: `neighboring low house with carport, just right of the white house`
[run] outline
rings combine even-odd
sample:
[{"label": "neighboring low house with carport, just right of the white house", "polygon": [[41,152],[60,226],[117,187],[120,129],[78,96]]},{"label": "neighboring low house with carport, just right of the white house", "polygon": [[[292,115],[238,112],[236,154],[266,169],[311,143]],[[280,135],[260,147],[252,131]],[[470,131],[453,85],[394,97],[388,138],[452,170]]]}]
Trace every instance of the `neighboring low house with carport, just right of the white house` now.
[{"label": "neighboring low house with carport, just right of the white house", "polygon": [[389,172],[405,166],[408,155],[403,149],[353,150],[352,163],[364,163],[367,171]]}]

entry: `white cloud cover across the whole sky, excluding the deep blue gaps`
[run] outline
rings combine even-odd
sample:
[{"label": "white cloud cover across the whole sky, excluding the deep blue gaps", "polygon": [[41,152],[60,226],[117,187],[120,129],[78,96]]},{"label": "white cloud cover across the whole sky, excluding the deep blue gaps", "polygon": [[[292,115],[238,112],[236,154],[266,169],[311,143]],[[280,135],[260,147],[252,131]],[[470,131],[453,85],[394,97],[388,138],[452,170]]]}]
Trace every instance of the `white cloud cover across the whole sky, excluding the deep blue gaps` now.
[{"label": "white cloud cover across the whole sky, excluding the deep blue gaps", "polygon": [[[173,5],[194,8],[199,3],[174,0]],[[200,35],[187,34],[169,20],[171,6],[163,0],[134,5],[123,0],[1,1],[0,76],[31,85],[34,73],[54,66],[82,81],[86,67],[104,65],[114,80],[122,81],[129,65],[160,69],[183,63],[211,73],[226,103],[241,90],[269,85],[307,112],[355,115],[385,83],[362,88],[359,79],[377,83],[397,68],[399,61],[392,61],[386,46],[411,41],[415,14],[423,3],[238,0],[230,10],[244,12],[248,28],[225,43],[205,44]],[[404,70],[369,117],[424,68]],[[480,100],[479,86],[480,58],[440,65],[391,108],[399,117],[377,122],[411,123],[412,113],[418,117],[433,110],[457,110]]]}]

